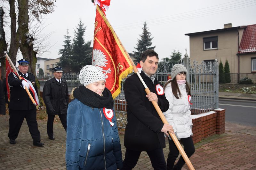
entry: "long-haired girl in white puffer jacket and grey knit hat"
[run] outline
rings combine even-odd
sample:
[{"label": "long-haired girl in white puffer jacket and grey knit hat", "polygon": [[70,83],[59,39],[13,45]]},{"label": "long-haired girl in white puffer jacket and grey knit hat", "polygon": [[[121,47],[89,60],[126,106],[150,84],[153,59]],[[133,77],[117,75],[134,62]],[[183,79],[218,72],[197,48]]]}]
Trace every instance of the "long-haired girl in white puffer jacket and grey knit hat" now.
[{"label": "long-haired girl in white puffer jacket and grey knit hat", "polygon": [[[186,82],[187,69],[182,64],[175,64],[172,67],[172,80],[164,85],[164,93],[169,101],[169,109],[164,112],[164,116],[168,123],[172,125],[176,137],[182,141],[184,151],[188,158],[195,152],[192,140],[192,118],[190,108],[190,87]],[[181,169],[185,164],[184,159],[180,156],[177,164],[174,162],[179,156],[179,150],[169,138],[170,152],[167,158],[167,170]]]}]

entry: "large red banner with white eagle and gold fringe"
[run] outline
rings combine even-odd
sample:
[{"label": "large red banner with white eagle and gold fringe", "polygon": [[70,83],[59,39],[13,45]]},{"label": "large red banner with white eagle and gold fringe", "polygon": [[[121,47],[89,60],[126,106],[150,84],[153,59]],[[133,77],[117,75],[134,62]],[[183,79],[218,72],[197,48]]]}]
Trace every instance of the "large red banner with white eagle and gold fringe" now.
[{"label": "large red banner with white eagle and gold fringe", "polygon": [[132,72],[129,57],[106,16],[97,5],[92,65],[102,69],[106,78],[106,87],[113,98],[120,93],[122,79]]}]

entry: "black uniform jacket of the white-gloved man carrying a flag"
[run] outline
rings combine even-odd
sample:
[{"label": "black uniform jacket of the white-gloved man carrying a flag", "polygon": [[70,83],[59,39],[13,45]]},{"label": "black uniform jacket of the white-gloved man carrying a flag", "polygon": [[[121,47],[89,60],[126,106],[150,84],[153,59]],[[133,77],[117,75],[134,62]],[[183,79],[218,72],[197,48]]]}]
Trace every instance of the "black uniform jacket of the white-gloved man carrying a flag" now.
[{"label": "black uniform jacket of the white-gloved man carrying a flag", "polygon": [[[18,71],[19,75],[22,77],[22,73]],[[10,86],[10,103],[9,108],[13,110],[29,110],[29,109],[35,109],[35,105],[32,103],[31,99],[28,96],[28,93],[25,89],[23,89],[23,85],[21,84],[22,79],[20,80],[18,76],[14,76],[15,73],[10,73],[8,76],[8,83]],[[34,86],[36,93],[37,92],[37,86],[36,86],[36,77],[28,73],[28,77],[26,77],[27,80],[29,80],[32,85]],[[29,89],[29,92],[31,96],[33,96],[32,91]]]}]

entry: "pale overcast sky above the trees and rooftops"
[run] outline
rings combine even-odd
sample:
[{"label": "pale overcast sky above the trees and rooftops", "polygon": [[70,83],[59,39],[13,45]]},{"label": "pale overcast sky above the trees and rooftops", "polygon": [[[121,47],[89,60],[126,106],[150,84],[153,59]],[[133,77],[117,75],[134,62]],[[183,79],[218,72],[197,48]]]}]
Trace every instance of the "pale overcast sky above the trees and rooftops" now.
[{"label": "pale overcast sky above the trees and rooftops", "polygon": [[[106,16],[126,50],[130,53],[136,47],[144,21],[152,33],[153,46],[159,58],[168,57],[179,50],[184,56],[189,36],[194,33],[223,28],[232,23],[233,27],[256,24],[255,0],[111,0]],[[57,0],[55,11],[48,14],[43,33],[53,32],[47,55],[40,57],[58,58],[63,48],[64,35],[74,35],[79,18],[86,26],[85,41],[93,40],[95,7],[91,0]],[[93,46],[93,44],[91,44]]]}]

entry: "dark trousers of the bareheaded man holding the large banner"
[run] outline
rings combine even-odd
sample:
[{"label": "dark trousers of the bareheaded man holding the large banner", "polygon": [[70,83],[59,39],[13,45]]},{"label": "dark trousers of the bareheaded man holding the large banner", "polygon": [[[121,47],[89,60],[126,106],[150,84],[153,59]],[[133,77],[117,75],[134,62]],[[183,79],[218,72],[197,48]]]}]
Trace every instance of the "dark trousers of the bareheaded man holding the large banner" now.
[{"label": "dark trousers of the bareheaded man holding the large banner", "polygon": [[[131,170],[132,168],[134,168],[134,166],[136,166],[138,162],[140,153],[141,151],[133,151],[126,148],[125,157],[123,161],[123,168],[121,168],[121,170]],[[147,151],[147,153],[154,170],[166,169],[163,149],[155,149],[152,151]]]}]

